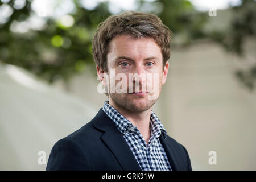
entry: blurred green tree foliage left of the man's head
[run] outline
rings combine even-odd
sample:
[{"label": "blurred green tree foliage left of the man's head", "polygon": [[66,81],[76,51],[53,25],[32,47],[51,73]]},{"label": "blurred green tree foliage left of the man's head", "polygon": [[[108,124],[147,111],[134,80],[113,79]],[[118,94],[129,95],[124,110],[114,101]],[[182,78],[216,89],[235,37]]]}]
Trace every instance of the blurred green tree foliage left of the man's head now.
[{"label": "blurred green tree foliage left of the man's head", "polygon": [[65,15],[66,22],[73,21],[70,27],[61,20],[47,18],[42,30],[22,34],[10,31],[13,22],[22,22],[35,14],[31,2],[26,1],[22,9],[15,9],[14,1],[7,2],[13,14],[0,24],[0,60],[26,68],[49,82],[68,81],[75,73],[84,71],[86,64],[93,63],[92,38],[98,23],[110,15],[108,3],[87,10],[73,1],[75,13]]}]

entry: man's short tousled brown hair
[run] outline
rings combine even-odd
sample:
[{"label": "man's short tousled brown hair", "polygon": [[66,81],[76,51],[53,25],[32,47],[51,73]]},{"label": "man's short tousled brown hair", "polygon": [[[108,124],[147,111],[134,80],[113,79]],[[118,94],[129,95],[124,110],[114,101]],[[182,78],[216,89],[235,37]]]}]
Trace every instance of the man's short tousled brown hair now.
[{"label": "man's short tousled brown hair", "polygon": [[125,11],[119,15],[109,16],[98,25],[93,38],[93,59],[105,72],[108,72],[107,55],[109,42],[114,36],[129,34],[134,38],[150,37],[161,48],[163,67],[170,58],[170,42],[172,32],[160,18],[150,13]]}]

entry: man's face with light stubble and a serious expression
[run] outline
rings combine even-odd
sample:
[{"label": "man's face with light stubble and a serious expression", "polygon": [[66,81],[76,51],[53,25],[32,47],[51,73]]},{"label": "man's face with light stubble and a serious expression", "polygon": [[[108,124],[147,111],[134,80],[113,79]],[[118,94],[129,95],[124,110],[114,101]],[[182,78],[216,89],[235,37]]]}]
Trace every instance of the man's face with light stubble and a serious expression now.
[{"label": "man's face with light stubble and a serious expression", "polygon": [[163,69],[160,47],[152,38],[134,39],[130,35],[114,37],[109,46],[109,80],[104,81],[109,102],[133,112],[150,109],[158,100],[168,73],[169,64]]}]

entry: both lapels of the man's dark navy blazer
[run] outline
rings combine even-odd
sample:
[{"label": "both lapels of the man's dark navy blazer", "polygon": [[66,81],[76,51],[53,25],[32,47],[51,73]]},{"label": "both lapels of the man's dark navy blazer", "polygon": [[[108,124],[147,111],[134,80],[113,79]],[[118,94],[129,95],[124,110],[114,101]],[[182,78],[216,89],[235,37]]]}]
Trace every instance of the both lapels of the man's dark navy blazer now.
[{"label": "both lapels of the man's dark navy blazer", "polygon": [[[114,122],[105,114],[102,108],[92,119],[92,124],[94,127],[104,132],[101,139],[113,152],[123,170],[141,171],[141,167],[139,167],[139,164],[135,159],[133,152],[131,152],[130,147],[126,143],[125,138],[123,138],[123,135],[117,129]],[[179,170],[179,167],[177,166],[177,164],[179,164],[177,161],[178,156],[174,146],[172,146],[170,141],[167,142],[168,137],[163,133],[160,135],[159,139],[166,151],[172,170]]]}]

